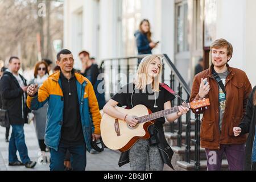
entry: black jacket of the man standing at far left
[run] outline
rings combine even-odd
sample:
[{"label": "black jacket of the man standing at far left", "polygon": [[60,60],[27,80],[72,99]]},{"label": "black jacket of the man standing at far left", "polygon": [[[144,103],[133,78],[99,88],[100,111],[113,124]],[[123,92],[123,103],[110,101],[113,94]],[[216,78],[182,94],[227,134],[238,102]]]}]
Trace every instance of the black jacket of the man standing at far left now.
[{"label": "black jacket of the man standing at far left", "polygon": [[[24,85],[27,82],[22,77]],[[0,81],[0,91],[2,96],[2,107],[8,111],[11,125],[22,125],[27,123],[28,107],[25,103],[24,94],[22,88],[20,88],[18,81],[10,72],[3,73]],[[26,95],[27,96],[27,95]]]}]

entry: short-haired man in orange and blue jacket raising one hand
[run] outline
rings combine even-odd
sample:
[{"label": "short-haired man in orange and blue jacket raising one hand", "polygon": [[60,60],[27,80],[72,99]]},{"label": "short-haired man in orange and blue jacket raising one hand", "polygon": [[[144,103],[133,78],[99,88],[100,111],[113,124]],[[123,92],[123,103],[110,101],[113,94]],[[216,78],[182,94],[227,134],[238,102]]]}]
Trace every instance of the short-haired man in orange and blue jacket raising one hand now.
[{"label": "short-haired man in orange and blue jacket raising one hand", "polygon": [[90,81],[73,69],[73,55],[68,49],[57,53],[60,71],[49,76],[38,89],[27,89],[27,105],[37,110],[48,102],[45,143],[51,148],[52,170],[64,170],[67,150],[72,154],[73,170],[85,170],[86,148],[100,138],[101,114]]}]

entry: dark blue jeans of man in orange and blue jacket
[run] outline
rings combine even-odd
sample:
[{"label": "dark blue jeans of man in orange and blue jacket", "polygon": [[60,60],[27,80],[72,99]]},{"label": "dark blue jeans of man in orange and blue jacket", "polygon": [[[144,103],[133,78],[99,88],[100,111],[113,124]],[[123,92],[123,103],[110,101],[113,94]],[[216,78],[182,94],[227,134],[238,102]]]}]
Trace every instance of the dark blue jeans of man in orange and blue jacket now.
[{"label": "dark blue jeans of man in orange and blue jacket", "polygon": [[64,159],[67,150],[72,155],[71,166],[73,171],[85,171],[86,167],[86,144],[72,146],[68,144],[59,144],[58,151],[51,148],[51,171],[64,171]]}]

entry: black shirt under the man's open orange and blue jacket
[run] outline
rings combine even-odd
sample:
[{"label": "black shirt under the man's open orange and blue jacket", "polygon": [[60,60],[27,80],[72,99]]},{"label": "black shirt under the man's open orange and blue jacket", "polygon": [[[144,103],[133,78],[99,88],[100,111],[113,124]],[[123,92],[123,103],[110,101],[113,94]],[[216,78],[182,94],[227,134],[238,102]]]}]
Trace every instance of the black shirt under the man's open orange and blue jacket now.
[{"label": "black shirt under the man's open orange and blue jacket", "polygon": [[73,74],[68,80],[60,72],[61,89],[64,95],[63,126],[61,127],[60,142],[65,144],[81,144],[84,142],[76,77]]}]

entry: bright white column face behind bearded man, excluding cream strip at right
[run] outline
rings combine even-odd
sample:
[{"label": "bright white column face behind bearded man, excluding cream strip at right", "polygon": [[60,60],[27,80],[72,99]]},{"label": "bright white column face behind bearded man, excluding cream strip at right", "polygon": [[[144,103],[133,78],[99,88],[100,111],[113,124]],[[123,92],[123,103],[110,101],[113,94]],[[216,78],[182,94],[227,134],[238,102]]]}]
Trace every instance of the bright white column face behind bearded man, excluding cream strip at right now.
[{"label": "bright white column face behind bearded man, excluding cream strip at right", "polygon": [[234,47],[232,67],[245,71],[245,14],[246,1],[218,0],[216,38],[224,38]]}]

